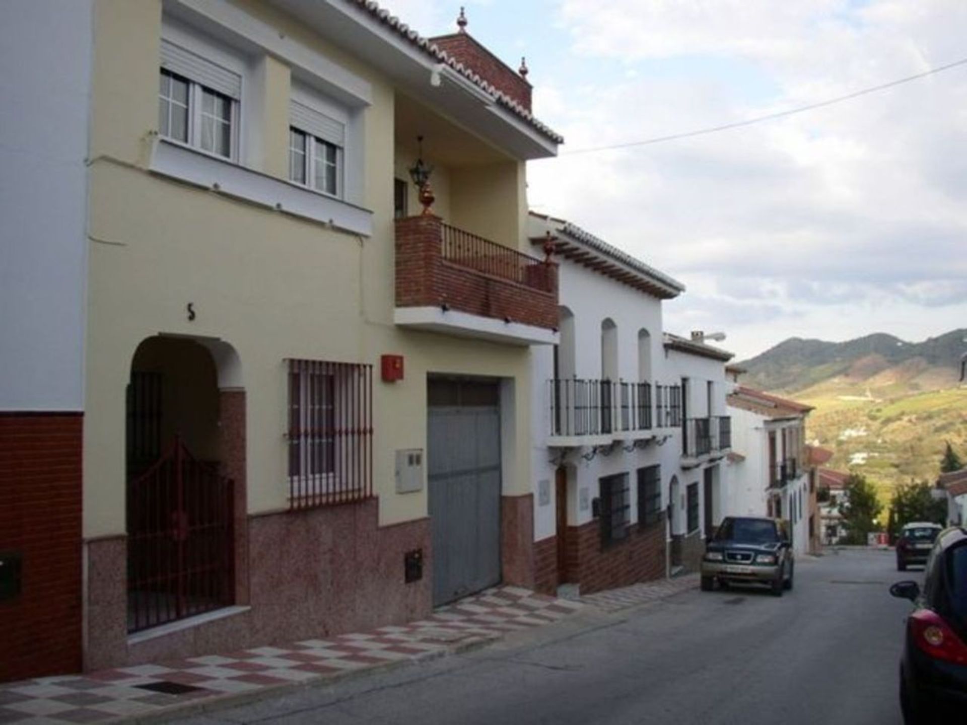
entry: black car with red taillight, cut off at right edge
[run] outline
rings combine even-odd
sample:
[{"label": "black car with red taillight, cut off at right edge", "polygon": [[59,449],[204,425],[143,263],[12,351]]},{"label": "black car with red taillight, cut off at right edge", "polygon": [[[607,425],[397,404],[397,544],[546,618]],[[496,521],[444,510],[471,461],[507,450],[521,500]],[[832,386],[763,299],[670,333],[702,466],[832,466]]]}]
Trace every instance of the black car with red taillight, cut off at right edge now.
[{"label": "black car with red taillight, cut off at right edge", "polygon": [[[907,725],[963,722],[967,712],[967,530],[937,536],[923,576],[890,594],[910,599],[900,660],[900,707]],[[944,719],[950,717],[951,719]]]}]

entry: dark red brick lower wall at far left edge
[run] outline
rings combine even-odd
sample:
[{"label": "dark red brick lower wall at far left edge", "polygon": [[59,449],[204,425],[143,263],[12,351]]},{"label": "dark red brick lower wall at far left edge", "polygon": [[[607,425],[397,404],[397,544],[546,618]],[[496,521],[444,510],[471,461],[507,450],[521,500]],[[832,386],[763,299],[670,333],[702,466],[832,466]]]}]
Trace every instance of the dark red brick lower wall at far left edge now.
[{"label": "dark red brick lower wall at far left edge", "polygon": [[22,555],[0,601],[0,681],[81,665],[80,414],[0,413],[0,552]]}]

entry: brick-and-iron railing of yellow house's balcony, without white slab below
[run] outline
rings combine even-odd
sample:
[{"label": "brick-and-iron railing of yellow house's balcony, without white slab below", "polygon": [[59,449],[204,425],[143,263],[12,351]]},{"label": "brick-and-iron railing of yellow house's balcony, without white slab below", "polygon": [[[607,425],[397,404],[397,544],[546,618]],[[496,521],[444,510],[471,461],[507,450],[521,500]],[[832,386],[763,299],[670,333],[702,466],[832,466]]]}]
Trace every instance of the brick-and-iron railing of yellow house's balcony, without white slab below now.
[{"label": "brick-and-iron railing of yellow house's balcony, without white slab below", "polygon": [[556,330],[557,265],[440,217],[396,219],[396,306],[444,307]]}]

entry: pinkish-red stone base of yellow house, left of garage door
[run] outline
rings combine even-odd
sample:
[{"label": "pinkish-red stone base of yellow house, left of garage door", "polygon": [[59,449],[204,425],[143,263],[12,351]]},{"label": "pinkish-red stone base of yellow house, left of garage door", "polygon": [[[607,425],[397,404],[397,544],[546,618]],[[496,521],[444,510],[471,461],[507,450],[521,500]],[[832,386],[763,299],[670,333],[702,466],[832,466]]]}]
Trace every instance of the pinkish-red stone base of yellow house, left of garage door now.
[{"label": "pinkish-red stone base of yellow house, left of garage door", "polygon": [[[230,652],[425,619],[432,611],[428,518],[379,526],[377,499],[249,515],[249,611],[129,645],[124,537],[88,544],[91,670]],[[406,552],[424,552],[405,581]]]}]

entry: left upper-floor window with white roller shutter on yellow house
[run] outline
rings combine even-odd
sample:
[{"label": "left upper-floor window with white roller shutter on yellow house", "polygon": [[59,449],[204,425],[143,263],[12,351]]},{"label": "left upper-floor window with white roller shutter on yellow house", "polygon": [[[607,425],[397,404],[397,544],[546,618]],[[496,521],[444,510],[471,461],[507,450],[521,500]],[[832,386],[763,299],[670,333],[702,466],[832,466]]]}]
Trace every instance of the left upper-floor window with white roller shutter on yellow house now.
[{"label": "left upper-floor window with white roller shutter on yellow house", "polygon": [[180,45],[161,41],[161,136],[235,160],[242,77]]}]

